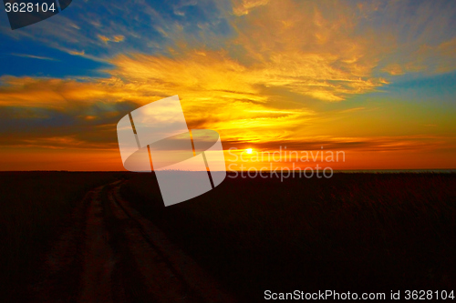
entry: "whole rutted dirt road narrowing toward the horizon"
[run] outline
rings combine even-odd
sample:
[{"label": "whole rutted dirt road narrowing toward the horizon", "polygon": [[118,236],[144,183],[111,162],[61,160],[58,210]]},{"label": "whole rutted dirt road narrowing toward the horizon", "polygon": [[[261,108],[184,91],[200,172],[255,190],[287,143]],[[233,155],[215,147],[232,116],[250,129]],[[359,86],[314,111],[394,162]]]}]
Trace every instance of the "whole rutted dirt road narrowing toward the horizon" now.
[{"label": "whole rutted dirt road narrowing toward the horizon", "polygon": [[47,256],[31,292],[39,302],[234,302],[161,230],[119,195],[125,181],[95,188]]}]

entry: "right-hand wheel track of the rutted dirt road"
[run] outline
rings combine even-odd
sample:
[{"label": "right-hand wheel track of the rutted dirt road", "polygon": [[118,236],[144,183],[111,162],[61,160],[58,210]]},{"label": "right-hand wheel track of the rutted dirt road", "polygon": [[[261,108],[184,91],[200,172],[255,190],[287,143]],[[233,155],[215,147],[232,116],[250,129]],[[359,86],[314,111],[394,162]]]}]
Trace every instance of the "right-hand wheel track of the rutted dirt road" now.
[{"label": "right-hand wheel track of the rutted dirt road", "polygon": [[214,278],[120,197],[121,185],[109,190],[109,205],[119,220],[130,222],[124,232],[148,292],[163,302],[235,302]]}]

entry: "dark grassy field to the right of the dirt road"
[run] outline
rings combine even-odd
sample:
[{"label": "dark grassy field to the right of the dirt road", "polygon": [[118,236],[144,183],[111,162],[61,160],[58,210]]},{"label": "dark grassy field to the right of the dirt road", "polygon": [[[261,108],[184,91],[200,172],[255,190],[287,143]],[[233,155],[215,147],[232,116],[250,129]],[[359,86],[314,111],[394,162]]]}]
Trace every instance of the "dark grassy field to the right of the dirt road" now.
[{"label": "dark grassy field to the right of the dirt road", "polygon": [[245,301],[275,292],[456,286],[456,176],[227,177],[163,207],[150,174],[121,193]]}]

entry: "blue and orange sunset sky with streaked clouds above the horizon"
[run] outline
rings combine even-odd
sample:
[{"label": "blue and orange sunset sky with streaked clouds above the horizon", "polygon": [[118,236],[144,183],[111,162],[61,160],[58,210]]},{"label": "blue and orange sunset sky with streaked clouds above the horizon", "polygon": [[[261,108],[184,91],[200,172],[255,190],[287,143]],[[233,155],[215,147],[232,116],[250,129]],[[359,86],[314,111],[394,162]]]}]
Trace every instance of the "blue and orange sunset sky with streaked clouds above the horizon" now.
[{"label": "blue and orange sunset sky with streaked clouds above the horizon", "polygon": [[228,164],[286,146],[456,168],[455,84],[451,0],[75,0],[16,30],[2,13],[0,170],[124,170],[119,119],[174,95]]}]

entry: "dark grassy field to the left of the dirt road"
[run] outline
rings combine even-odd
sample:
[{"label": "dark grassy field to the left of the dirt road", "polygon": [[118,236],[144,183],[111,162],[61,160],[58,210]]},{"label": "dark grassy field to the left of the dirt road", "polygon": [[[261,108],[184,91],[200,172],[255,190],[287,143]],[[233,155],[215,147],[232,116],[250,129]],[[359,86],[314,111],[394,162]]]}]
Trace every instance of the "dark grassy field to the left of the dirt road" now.
[{"label": "dark grassy field to the left of the dirt road", "polygon": [[71,224],[86,192],[112,182],[116,173],[0,172],[0,295],[27,299],[41,275],[45,254]]}]

